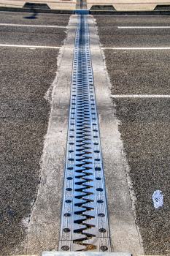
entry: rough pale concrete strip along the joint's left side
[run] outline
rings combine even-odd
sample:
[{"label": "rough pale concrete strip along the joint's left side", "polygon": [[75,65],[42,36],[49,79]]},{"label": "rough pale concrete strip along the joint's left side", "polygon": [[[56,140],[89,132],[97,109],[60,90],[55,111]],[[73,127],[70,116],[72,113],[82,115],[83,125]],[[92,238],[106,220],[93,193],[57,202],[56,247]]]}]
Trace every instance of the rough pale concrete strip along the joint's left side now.
[{"label": "rough pale concrete strip along the joint's left side", "polygon": [[76,25],[77,15],[71,16],[68,37],[58,57],[58,72],[45,96],[50,100],[50,91],[53,91],[42,155],[41,181],[31,217],[24,220],[25,225],[28,223],[26,241],[22,244],[22,252],[26,255],[58,249]]}]

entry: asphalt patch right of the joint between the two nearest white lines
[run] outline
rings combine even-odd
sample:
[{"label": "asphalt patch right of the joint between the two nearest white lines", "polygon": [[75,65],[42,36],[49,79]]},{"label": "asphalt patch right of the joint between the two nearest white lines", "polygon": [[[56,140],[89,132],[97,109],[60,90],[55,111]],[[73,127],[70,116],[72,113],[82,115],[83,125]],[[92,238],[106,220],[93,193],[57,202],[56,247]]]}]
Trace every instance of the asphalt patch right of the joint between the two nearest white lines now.
[{"label": "asphalt patch right of the joint between the two nearest white lines", "polygon": [[104,53],[112,94],[169,94],[169,50],[104,50]]}]

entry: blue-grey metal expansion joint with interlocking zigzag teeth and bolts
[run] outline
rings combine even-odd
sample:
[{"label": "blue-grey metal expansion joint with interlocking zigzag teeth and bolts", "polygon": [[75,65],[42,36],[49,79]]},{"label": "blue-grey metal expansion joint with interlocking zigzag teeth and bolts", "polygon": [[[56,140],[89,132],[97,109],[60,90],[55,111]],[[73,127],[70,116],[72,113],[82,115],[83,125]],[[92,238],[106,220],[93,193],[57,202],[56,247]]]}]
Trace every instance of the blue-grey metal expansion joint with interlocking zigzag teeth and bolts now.
[{"label": "blue-grey metal expansion joint with interlocking zigzag teeth and bolts", "polygon": [[110,252],[107,198],[86,15],[79,15],[77,19],[68,129],[58,250]]}]

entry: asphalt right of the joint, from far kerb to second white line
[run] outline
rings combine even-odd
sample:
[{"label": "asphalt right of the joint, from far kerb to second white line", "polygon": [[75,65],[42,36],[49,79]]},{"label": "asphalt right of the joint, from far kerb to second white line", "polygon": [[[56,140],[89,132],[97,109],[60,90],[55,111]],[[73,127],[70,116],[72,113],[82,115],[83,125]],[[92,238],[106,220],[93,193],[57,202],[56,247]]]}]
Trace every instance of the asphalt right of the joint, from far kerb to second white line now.
[{"label": "asphalt right of the joint, from far kerb to second white line", "polygon": [[169,16],[94,15],[104,47],[169,47],[170,29],[118,29],[117,26],[170,26]]}]

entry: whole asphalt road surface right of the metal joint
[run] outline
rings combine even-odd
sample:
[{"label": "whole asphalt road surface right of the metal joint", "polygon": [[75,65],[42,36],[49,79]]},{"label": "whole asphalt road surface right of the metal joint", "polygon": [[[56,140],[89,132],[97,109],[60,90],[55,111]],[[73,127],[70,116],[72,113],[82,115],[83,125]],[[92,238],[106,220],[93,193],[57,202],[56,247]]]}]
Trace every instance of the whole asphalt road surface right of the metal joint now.
[{"label": "whole asphalt road surface right of the metal joint", "polygon": [[[101,47],[112,48],[105,49],[104,55],[134,184],[136,224],[142,235],[144,252],[146,255],[169,255],[170,99],[165,95],[170,94],[170,49],[142,48],[170,47],[170,28],[154,28],[170,26],[170,18],[115,15],[94,18]],[[139,97],[133,97],[134,94]],[[159,208],[154,207],[152,200],[157,190],[163,195],[163,206]]]}]

